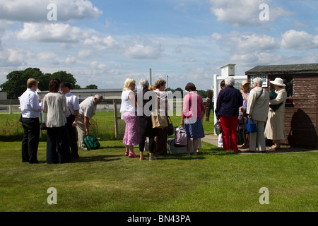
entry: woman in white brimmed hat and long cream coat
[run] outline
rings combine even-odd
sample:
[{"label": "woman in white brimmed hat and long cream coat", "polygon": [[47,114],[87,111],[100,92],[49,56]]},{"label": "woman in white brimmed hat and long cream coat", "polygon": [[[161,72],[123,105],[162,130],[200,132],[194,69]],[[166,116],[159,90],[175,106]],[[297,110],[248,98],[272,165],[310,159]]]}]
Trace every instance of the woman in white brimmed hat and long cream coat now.
[{"label": "woman in white brimmed hat and long cream coat", "polygon": [[273,145],[269,150],[277,150],[280,148],[281,140],[285,140],[285,101],[287,98],[287,93],[285,90],[285,84],[283,83],[283,79],[275,78],[274,81],[270,81],[275,88],[275,93],[277,97],[273,100],[269,101],[270,105],[280,105],[280,107],[270,107],[269,114],[267,118],[267,123],[265,127],[265,137],[273,140]]}]

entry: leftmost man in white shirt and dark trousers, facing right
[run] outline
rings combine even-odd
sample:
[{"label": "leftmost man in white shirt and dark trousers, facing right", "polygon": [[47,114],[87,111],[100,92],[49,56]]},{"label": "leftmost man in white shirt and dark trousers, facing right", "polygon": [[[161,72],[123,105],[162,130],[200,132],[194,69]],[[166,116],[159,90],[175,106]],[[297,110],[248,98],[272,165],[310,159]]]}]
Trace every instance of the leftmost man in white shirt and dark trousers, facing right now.
[{"label": "leftmost man in white shirt and dark trousers, facing right", "polygon": [[38,163],[37,148],[40,139],[40,121],[39,116],[42,106],[35,91],[38,81],[29,78],[27,81],[27,90],[19,97],[20,109],[22,112],[20,121],[23,126],[22,139],[22,162]]}]

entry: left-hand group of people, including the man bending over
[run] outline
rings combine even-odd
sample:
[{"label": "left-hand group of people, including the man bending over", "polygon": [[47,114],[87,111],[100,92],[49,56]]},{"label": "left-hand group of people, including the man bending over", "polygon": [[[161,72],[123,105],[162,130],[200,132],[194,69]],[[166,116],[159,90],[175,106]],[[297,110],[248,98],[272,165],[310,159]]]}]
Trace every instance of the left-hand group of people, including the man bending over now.
[{"label": "left-hand group of people, including the man bending over", "polygon": [[79,157],[78,145],[86,149],[83,140],[90,133],[89,121],[95,114],[96,106],[102,102],[102,95],[87,97],[79,104],[76,95],[70,92],[70,83],[61,83],[59,78],[52,78],[49,81],[49,93],[40,103],[36,94],[37,85],[38,81],[29,78],[27,90],[19,98],[22,112],[20,121],[23,126],[22,162],[39,163],[37,148],[40,140],[39,117],[42,111],[47,114],[46,162],[71,162]]}]

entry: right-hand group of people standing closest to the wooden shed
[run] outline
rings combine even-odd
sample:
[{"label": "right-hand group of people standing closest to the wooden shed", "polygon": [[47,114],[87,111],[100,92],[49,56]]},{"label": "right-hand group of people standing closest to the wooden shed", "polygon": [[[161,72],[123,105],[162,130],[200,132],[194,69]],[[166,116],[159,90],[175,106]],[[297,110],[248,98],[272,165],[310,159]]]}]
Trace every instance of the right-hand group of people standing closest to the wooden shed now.
[{"label": "right-hand group of people standing closest to the wooden shed", "polygon": [[[273,95],[262,88],[263,80],[254,78],[254,88],[250,83],[242,81],[241,90],[234,88],[234,78],[229,76],[220,83],[220,93],[216,102],[216,117],[220,120],[221,146],[223,150],[238,149],[238,133],[242,133],[244,143],[242,148],[247,151],[266,151],[266,138],[273,140],[269,150],[278,150],[285,140],[284,113],[287,93],[283,79],[270,81],[273,84]],[[257,126],[257,132],[249,133],[247,124],[252,119]]]}]

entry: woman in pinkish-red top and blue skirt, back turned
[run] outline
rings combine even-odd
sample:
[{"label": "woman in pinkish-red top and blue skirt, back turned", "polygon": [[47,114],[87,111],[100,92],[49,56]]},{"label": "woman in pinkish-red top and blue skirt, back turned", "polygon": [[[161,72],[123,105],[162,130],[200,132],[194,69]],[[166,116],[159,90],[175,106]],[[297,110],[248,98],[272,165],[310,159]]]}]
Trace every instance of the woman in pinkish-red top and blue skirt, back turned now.
[{"label": "woman in pinkish-red top and blue skirt, back turned", "polygon": [[204,138],[202,118],[205,107],[202,98],[196,94],[194,83],[187,83],[185,90],[188,91],[188,95],[183,100],[182,120],[180,124],[187,132],[187,155],[190,155],[191,138],[193,139],[193,155],[196,155],[198,138]]}]

